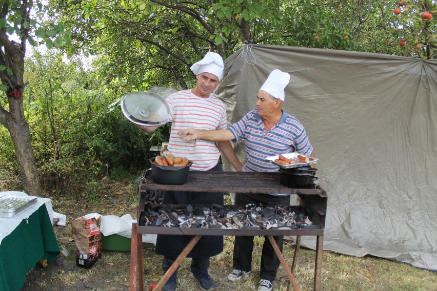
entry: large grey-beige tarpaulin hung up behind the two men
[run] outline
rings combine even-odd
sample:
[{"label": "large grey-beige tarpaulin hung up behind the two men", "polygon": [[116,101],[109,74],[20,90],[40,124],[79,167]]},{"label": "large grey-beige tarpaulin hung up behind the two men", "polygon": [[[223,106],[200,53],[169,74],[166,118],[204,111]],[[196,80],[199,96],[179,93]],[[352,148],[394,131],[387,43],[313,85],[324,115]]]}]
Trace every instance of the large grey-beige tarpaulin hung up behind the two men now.
[{"label": "large grey-beige tarpaulin hung up behind the two men", "polygon": [[283,109],[306,128],[328,192],[324,250],[437,270],[437,60],[246,45],[225,68],[216,94],[230,124],[273,69],[291,75]]}]

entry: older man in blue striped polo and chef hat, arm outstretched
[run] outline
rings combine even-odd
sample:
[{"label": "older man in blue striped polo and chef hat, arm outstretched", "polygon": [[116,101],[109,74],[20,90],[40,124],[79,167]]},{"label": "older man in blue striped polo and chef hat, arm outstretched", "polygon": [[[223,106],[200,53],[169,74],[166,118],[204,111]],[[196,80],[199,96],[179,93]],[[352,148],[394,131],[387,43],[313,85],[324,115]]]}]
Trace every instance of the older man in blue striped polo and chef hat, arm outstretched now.
[{"label": "older man in blue striped polo and chef hat, arm outstretched", "polygon": [[[248,112],[240,121],[232,124],[226,130],[195,130],[180,131],[178,135],[184,140],[204,139],[211,141],[244,139],[246,163],[243,172],[277,172],[276,164],[266,161],[266,157],[299,152],[314,157],[314,151],[302,123],[293,115],[282,109],[285,101],[285,88],[290,81],[290,75],[279,69],[271,71],[261,86],[256,108]],[[290,195],[266,193],[237,193],[235,205],[249,203],[268,205],[289,205]],[[273,237],[281,252],[283,237]],[[231,281],[237,281],[251,272],[253,251],[253,236],[236,236],[233,253],[233,271],[228,275]],[[280,260],[273,246],[266,238],[264,240],[260,283],[258,291],[270,291],[276,278]]]}]

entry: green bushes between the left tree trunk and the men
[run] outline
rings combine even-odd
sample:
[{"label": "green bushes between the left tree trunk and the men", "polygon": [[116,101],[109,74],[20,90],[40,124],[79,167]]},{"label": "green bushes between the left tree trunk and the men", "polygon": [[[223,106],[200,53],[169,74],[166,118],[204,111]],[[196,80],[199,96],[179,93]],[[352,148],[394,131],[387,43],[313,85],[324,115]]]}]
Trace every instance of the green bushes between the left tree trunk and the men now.
[{"label": "green bushes between the left tree trunk and the men", "polygon": [[[26,63],[25,113],[40,176],[87,180],[148,167],[148,149],[168,140],[169,126],[144,134],[122,114],[117,92],[105,89],[80,59],[66,64],[62,58],[36,52]],[[12,146],[2,151],[11,158]]]}]

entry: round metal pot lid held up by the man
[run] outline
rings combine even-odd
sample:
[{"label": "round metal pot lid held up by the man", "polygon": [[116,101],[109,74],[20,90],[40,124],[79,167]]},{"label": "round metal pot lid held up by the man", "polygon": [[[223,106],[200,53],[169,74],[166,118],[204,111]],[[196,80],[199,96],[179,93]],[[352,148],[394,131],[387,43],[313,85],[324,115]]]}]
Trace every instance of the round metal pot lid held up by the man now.
[{"label": "round metal pot lid held up by the man", "polygon": [[141,126],[161,126],[170,115],[164,98],[152,92],[128,93],[120,100],[120,107],[129,121]]}]

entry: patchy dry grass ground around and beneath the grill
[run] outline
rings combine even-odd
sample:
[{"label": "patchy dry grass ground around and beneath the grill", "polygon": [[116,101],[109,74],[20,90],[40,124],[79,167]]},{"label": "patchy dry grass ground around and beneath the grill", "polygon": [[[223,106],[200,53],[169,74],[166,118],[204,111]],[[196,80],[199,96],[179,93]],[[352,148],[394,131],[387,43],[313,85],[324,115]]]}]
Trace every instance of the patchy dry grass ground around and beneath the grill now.
[{"label": "patchy dry grass ground around and beneath the grill", "polygon": [[[0,191],[17,190],[10,183],[15,179],[0,181]],[[55,226],[58,243],[65,245],[69,251],[67,258],[59,255],[46,268],[35,267],[28,273],[22,291],[32,290],[129,290],[130,253],[104,251],[102,257],[89,270],[75,266],[77,248],[71,235],[71,221],[89,213],[102,215],[131,214],[136,218],[138,203],[135,178],[121,181],[103,179],[90,184],[91,189],[81,195],[53,194],[53,210],[67,216],[66,226]],[[70,189],[73,189],[70,185]],[[82,187],[80,187],[82,189]],[[19,191],[19,190],[18,190]],[[74,199],[72,197],[75,197]],[[88,198],[87,198],[88,197]],[[89,197],[92,197],[90,199]],[[229,202],[229,197],[227,197]],[[210,275],[216,283],[217,290],[256,290],[259,282],[259,265],[263,237],[255,237],[252,273],[241,281],[230,282],[226,279],[232,271],[232,252],[234,238],[224,238],[225,249],[221,254],[211,258]],[[162,256],[153,252],[152,244],[143,244],[144,286],[156,283],[162,276]],[[284,257],[288,265],[294,252],[294,243],[287,241],[284,245]],[[315,251],[301,248],[297,256],[294,277],[302,291],[313,289]],[[178,270],[178,290],[199,290],[198,284],[189,271],[190,259],[185,259]],[[369,291],[369,290],[404,290],[437,291],[437,272],[415,268],[411,265],[367,256],[364,258],[323,252],[321,290],[335,291]],[[273,290],[287,290],[288,277],[280,266]]]}]

